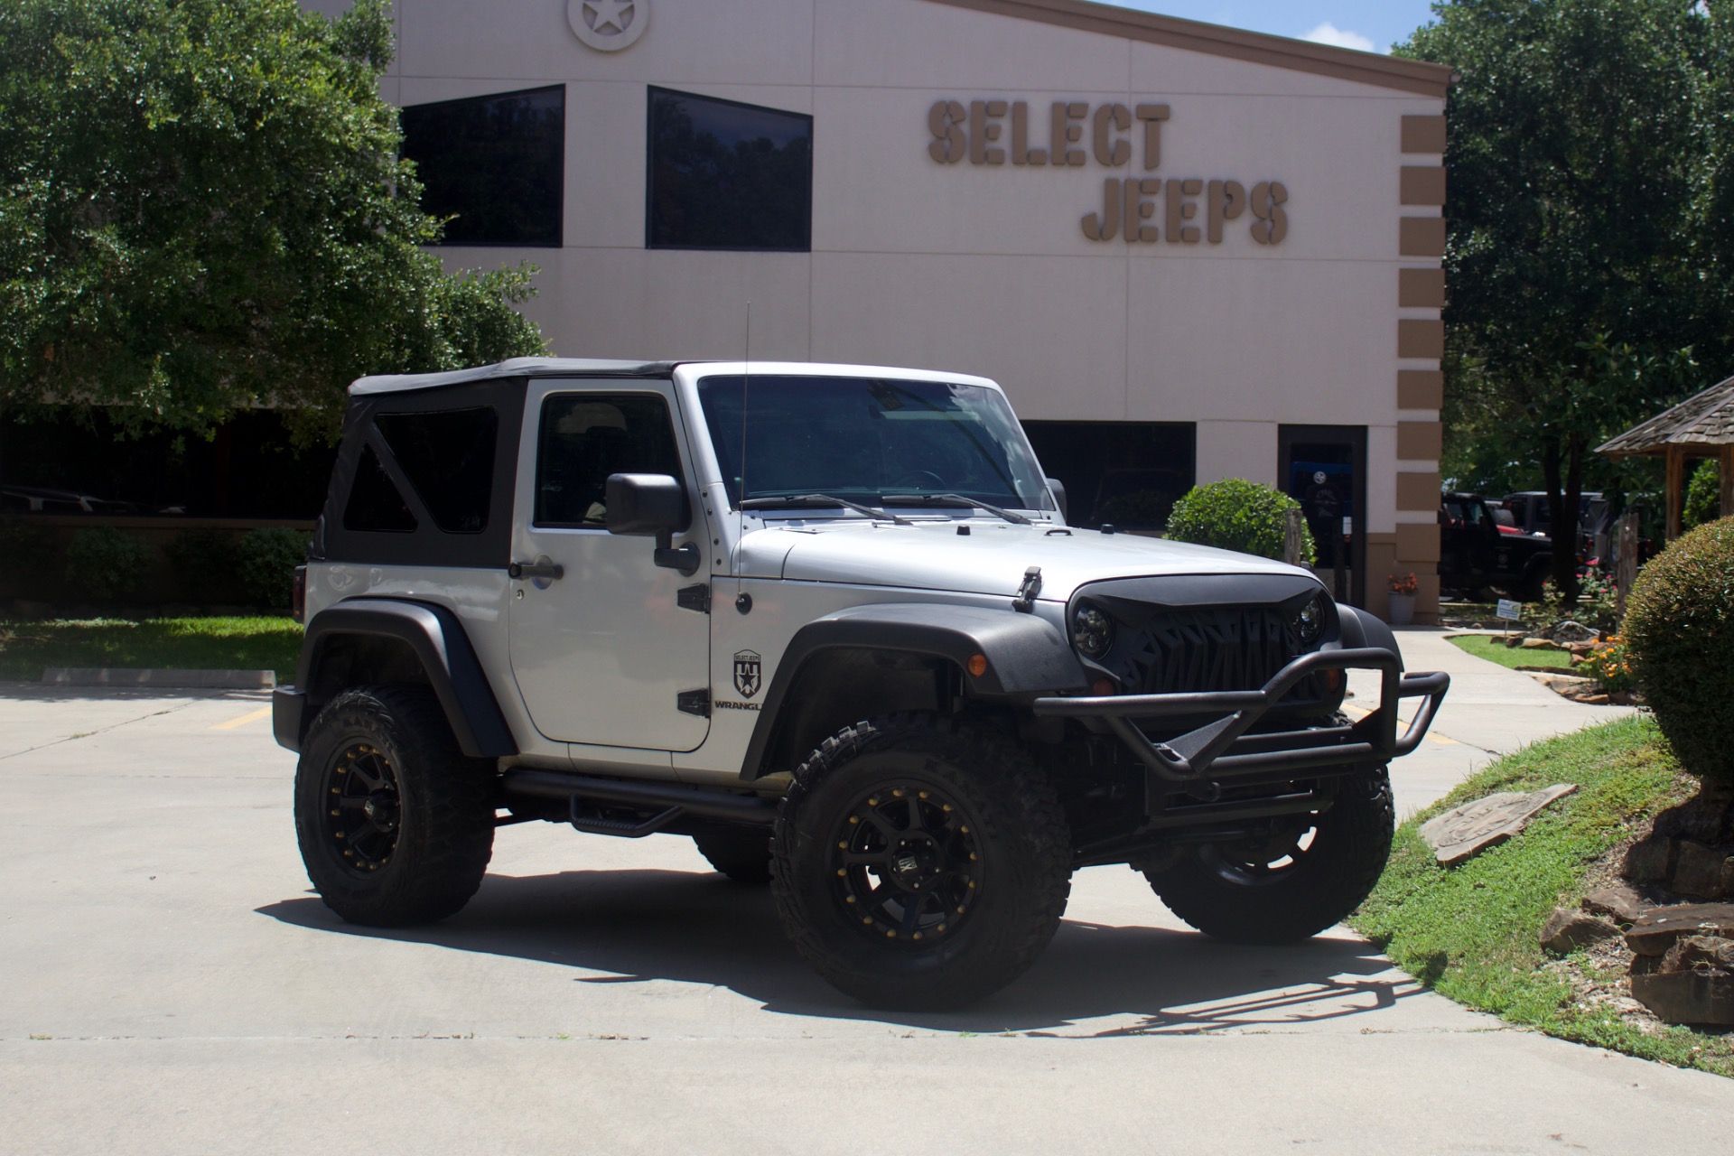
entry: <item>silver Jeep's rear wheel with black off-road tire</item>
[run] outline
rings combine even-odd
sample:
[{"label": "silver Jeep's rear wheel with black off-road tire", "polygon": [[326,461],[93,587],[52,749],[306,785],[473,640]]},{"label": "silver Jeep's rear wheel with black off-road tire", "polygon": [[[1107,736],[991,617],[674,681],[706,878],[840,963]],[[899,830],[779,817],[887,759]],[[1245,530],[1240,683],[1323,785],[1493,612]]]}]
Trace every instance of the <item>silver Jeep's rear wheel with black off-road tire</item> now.
[{"label": "silver Jeep's rear wheel with black off-road tire", "polygon": [[423,686],[335,697],[295,771],[295,834],[319,898],[368,927],[456,913],[494,849],[491,770],[458,750]]}]

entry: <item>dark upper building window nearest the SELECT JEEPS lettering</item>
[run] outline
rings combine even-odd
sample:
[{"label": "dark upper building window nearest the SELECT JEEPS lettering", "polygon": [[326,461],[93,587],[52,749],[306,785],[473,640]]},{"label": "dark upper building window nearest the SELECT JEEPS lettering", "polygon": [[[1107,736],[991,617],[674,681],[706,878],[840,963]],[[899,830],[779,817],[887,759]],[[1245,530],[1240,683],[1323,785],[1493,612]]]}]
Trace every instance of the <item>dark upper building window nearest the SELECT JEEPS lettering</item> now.
[{"label": "dark upper building window nearest the SELECT JEEPS lettering", "polygon": [[647,248],[812,250],[812,116],[650,88],[647,153]]}]

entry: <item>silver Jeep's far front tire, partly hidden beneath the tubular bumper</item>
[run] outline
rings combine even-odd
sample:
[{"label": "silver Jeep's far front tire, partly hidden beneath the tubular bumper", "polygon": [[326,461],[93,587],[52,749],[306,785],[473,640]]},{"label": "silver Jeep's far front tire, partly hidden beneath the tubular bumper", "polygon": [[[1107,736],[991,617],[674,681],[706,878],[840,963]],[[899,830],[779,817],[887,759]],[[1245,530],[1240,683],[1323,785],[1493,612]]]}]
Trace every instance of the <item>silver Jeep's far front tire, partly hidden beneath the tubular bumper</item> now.
[{"label": "silver Jeep's far front tire, partly hidden beneath the tubular bumper", "polygon": [[1170,912],[1229,943],[1294,943],[1342,922],[1391,856],[1394,811],[1384,768],[1344,778],[1328,811],[1273,820],[1255,839],[1195,844],[1138,865]]}]

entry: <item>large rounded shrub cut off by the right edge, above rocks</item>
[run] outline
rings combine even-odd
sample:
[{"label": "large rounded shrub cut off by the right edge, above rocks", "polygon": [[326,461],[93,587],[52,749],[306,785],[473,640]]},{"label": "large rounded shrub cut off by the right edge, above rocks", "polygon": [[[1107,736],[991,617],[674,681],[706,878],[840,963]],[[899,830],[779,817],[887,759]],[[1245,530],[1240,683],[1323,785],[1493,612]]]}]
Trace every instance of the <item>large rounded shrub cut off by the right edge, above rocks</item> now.
[{"label": "large rounded shrub cut off by the right edge, above rocks", "polygon": [[1698,527],[1644,567],[1623,634],[1680,764],[1734,783],[1734,518]]}]

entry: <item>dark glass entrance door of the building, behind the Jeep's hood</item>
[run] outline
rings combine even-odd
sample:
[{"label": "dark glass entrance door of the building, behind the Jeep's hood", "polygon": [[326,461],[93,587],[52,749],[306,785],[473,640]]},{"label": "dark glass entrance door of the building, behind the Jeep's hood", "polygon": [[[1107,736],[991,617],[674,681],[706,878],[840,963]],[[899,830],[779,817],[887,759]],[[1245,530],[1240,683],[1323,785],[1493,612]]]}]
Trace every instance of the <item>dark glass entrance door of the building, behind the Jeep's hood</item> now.
[{"label": "dark glass entrance door of the building, behind the Jeep's hood", "polygon": [[1337,601],[1366,605],[1366,426],[1285,425],[1276,477],[1300,503],[1314,568]]}]

